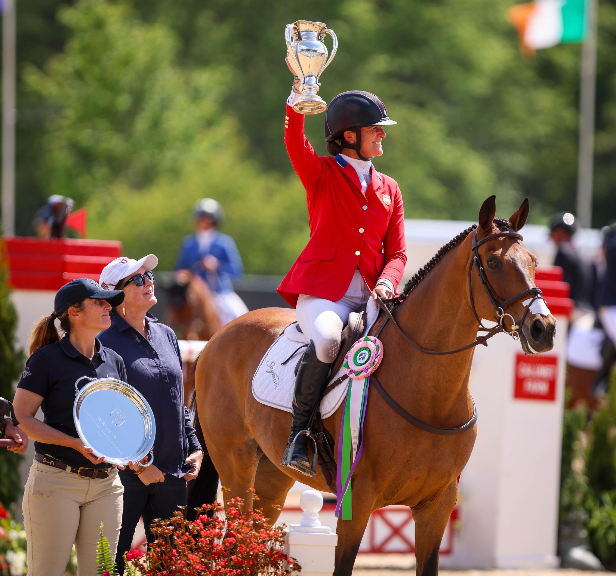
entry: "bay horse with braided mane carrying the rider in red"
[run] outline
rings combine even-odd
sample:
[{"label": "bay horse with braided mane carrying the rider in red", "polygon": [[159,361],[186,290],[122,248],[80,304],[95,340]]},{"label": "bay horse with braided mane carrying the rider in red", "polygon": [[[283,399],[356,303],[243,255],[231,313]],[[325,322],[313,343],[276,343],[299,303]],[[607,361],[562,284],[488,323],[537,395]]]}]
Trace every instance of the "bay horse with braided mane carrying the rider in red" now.
[{"label": "bay horse with braided mane carrying the rider in red", "polygon": [[[384,349],[373,376],[398,408],[429,428],[468,425],[461,434],[426,432],[394,413],[370,386],[363,456],[353,476],[353,519],[338,520],[336,527],[335,576],[351,575],[370,514],[387,505],[410,506],[416,523],[416,574],[437,574],[440,541],[458,495],[457,478],[477,434],[468,386],[474,348],[465,345],[480,342],[479,318],[500,322],[486,339],[496,331],[519,336],[527,354],[553,346],[554,317],[530,312],[532,302],[522,304],[522,298],[540,294],[534,282],[537,259],[517,233],[529,214],[529,201],[509,221],[495,214],[492,196],[480,209],[479,227],[464,230],[443,246],[407,283],[403,301],[392,312],[396,323],[383,326],[381,317],[371,330],[379,333]],[[248,489],[254,488],[258,506],[272,523],[280,514],[275,506],[284,504],[295,481],[330,492],[321,471],[309,478],[280,466],[291,415],[259,404],[251,392],[263,355],[295,320],[293,310],[254,310],[225,325],[201,353],[195,378],[196,427],[207,453],[205,467],[195,484],[190,482],[189,509],[215,498],[213,467],[230,489],[225,504],[242,497],[251,507]],[[451,354],[433,353],[460,347],[463,350]],[[498,374],[493,378],[494,386],[501,385]],[[336,444],[342,410],[341,405],[324,421]]]}]

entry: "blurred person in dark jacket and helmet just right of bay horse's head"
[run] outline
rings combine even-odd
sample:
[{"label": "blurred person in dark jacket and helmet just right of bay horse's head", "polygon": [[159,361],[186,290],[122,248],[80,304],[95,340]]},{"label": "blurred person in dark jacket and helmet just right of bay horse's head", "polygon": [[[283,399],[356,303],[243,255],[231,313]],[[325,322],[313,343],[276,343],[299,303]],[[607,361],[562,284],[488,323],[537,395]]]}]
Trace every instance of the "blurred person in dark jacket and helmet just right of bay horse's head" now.
[{"label": "blurred person in dark jacket and helmet just right of bay horse's head", "polygon": [[575,216],[569,212],[553,214],[549,224],[549,239],[556,244],[554,266],[563,270],[563,280],[569,283],[570,298],[577,310],[593,309],[594,278],[591,262],[586,262],[572,241],[577,230]]}]

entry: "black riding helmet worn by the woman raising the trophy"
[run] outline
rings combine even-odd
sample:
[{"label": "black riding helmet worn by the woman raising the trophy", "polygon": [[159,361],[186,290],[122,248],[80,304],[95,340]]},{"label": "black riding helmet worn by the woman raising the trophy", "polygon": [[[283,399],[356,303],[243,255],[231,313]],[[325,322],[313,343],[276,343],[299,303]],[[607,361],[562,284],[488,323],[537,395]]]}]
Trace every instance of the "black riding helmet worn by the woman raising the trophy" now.
[{"label": "black riding helmet worn by the woman raising the trophy", "polygon": [[[352,128],[362,128],[362,126],[388,126],[397,124],[394,120],[389,120],[387,108],[383,100],[371,92],[361,90],[351,90],[342,92],[334,97],[327,107],[325,113],[325,141],[338,140],[342,138],[345,130]],[[342,145],[342,141],[339,142]],[[362,147],[362,134],[357,130],[357,142],[355,144],[344,143],[344,148],[355,150],[357,155],[364,161],[360,153]]]}]

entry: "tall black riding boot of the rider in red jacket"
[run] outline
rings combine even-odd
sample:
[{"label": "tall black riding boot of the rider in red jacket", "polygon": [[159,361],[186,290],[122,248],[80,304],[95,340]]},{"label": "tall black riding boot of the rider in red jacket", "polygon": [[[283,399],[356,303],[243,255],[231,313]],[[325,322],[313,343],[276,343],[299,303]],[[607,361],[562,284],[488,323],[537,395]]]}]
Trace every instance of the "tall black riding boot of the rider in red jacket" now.
[{"label": "tall black riding boot of the rider in red jacket", "polygon": [[308,457],[308,437],[306,434],[302,434],[296,440],[292,460],[290,462],[286,460],[291,444],[298,435],[298,432],[308,428],[310,416],[312,416],[312,412],[321,399],[321,394],[327,384],[330,367],[331,364],[321,362],[317,358],[314,343],[310,340],[310,344],[308,344],[299,363],[298,375],[295,379],[291,435],[286,444],[285,455],[281,462],[283,466],[290,466],[290,468],[306,474],[306,476],[310,476],[307,473],[307,469],[310,468],[310,459]]}]

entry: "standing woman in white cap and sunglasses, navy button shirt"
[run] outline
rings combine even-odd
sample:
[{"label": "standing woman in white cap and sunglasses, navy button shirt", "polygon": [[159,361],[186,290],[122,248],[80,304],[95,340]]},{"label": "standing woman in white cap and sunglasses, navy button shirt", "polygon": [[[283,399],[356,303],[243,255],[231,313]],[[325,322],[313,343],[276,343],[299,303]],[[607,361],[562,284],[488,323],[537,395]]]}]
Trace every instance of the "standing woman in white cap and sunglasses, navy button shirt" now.
[{"label": "standing woman in white cap and sunglasses, navy button shirt", "polygon": [[154,254],[140,260],[116,258],[100,274],[105,288],[124,290],[124,302],[113,309],[111,327],[100,341],[124,359],[128,379],[152,407],[156,420],[154,463],[129,464],[120,473],[124,513],[116,564],[122,574],[124,552],[131,546],[139,517],[150,540],[155,518],[169,518],[186,505],[186,481],[197,477],[203,450],[184,405],[182,357],[173,330],[148,314],[156,304],[152,269]]}]

